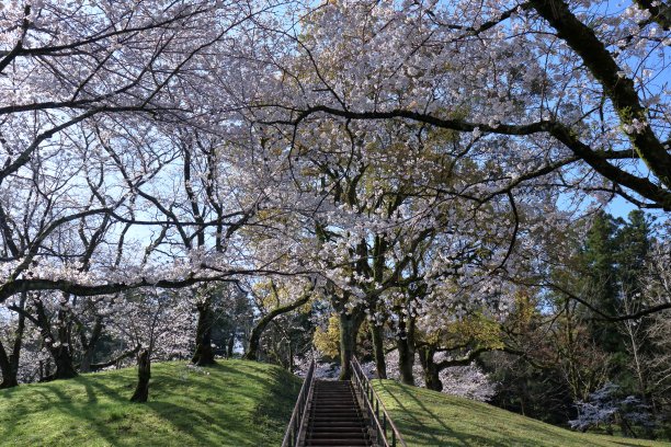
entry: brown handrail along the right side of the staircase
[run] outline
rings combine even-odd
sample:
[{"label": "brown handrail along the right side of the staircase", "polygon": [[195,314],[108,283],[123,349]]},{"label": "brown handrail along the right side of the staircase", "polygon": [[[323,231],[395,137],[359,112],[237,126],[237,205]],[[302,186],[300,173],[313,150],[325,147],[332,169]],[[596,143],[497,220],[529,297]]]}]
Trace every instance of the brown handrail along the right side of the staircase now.
[{"label": "brown handrail along the right side of the staircase", "polygon": [[[382,400],[373,389],[371,381],[364,374],[361,364],[356,359],[356,357],[352,357],[352,383],[361,394],[362,400],[364,401],[365,410],[368,413],[368,422],[371,427],[377,434],[377,445],[380,447],[396,447],[400,445],[402,447],[407,447],[403,437],[400,432],[391,421],[389,413],[385,409]],[[380,422],[380,410],[382,410],[382,422]],[[387,438],[387,425],[390,428],[391,444],[389,444],[389,439]]]}]

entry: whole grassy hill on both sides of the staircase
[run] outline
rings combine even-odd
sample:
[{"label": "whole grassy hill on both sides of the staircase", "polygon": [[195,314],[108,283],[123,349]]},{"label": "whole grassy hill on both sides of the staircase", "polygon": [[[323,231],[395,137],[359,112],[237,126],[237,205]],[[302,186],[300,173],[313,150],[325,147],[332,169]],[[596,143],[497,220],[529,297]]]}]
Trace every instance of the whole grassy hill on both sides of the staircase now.
[{"label": "whole grassy hill on both sides of the staircase", "polygon": [[[300,380],[254,362],[151,366],[149,402],[128,402],[135,368],[0,390],[0,446],[278,446]],[[585,435],[391,380],[374,381],[408,446],[671,446]]]}]

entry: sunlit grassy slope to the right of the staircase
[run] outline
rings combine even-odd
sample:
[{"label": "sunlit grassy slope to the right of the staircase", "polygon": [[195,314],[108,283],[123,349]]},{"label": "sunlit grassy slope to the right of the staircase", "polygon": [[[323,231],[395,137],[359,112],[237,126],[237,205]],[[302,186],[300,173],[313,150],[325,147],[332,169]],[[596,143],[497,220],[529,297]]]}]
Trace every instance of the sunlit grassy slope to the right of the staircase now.
[{"label": "sunlit grassy slope to the right of the staircase", "polygon": [[408,446],[671,446],[576,433],[486,403],[391,380],[375,380],[374,387]]}]

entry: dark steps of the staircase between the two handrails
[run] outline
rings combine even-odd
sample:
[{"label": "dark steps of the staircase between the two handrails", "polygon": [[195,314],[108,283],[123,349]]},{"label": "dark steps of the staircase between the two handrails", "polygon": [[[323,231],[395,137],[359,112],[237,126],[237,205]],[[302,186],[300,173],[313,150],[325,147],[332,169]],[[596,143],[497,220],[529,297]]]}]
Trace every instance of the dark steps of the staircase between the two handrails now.
[{"label": "dark steps of the staircase between the two handrails", "polygon": [[315,381],[308,416],[306,447],[373,446],[350,381]]}]

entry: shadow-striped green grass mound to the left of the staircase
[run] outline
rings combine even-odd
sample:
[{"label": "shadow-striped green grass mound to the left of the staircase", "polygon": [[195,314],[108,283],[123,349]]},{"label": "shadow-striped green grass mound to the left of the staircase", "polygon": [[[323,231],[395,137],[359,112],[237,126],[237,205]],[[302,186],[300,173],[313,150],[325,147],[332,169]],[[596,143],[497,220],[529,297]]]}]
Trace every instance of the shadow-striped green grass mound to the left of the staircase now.
[{"label": "shadow-striped green grass mound to the left of the staircase", "polygon": [[149,402],[128,401],[135,368],[0,390],[2,446],[273,446],[300,380],[242,360],[151,365]]}]

